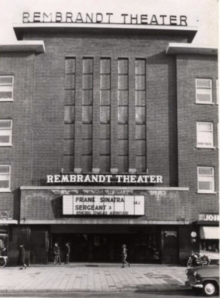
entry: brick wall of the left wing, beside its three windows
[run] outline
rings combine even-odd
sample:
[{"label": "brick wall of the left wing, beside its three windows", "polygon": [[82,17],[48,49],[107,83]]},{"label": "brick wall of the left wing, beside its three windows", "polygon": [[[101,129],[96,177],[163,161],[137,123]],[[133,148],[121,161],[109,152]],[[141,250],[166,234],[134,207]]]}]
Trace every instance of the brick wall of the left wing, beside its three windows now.
[{"label": "brick wall of the left wing, beside its three windows", "polygon": [[14,75],[13,102],[0,102],[0,119],[12,119],[12,146],[0,147],[0,163],[11,164],[11,193],[0,192],[0,210],[19,217],[20,185],[31,184],[34,54],[0,53],[0,74]]}]

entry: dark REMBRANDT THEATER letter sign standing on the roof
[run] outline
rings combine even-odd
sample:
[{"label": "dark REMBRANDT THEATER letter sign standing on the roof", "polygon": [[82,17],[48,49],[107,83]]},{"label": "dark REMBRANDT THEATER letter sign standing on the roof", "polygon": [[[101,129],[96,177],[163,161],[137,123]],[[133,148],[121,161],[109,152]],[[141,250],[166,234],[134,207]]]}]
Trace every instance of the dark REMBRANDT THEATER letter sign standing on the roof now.
[{"label": "dark REMBRANDT THEATER letter sign standing on the roof", "polygon": [[114,13],[112,12],[23,12],[22,22],[188,26],[186,15],[122,13],[116,21]]}]

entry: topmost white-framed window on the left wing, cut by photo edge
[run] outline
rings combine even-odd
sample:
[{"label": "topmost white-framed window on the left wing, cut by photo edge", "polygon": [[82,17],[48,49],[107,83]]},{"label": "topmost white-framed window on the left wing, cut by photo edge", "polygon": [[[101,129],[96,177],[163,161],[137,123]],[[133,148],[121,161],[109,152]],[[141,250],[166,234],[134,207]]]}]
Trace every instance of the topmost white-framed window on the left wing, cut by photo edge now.
[{"label": "topmost white-framed window on the left wing, cut by photo edge", "polygon": [[0,75],[0,101],[13,99],[13,75]]}]

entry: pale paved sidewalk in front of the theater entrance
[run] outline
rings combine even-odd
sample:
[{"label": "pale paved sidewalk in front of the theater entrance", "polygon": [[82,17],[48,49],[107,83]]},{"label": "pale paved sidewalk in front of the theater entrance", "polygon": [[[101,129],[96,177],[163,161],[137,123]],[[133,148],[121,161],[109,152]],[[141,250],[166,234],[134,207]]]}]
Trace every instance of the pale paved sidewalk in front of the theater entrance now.
[{"label": "pale paved sidewalk in front of the theater entrance", "polygon": [[164,265],[70,264],[0,269],[0,292],[182,291],[185,267]]}]

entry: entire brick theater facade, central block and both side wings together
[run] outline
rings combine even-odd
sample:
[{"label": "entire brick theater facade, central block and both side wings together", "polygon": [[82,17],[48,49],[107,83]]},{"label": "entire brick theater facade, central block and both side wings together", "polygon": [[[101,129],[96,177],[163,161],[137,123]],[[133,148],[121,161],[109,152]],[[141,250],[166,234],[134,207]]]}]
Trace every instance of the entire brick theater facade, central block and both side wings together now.
[{"label": "entire brick theater facade, central block and both side wings together", "polygon": [[[0,164],[11,164],[11,192],[0,192],[0,211],[9,210],[20,224],[16,227],[20,236],[14,236],[10,243],[11,258],[16,257],[15,242],[23,239],[27,246],[30,244],[31,229],[36,228],[31,226],[31,221],[44,224],[42,231],[45,233],[50,229],[50,221],[54,221],[53,224],[65,224],[66,220],[71,224],[83,224],[83,221],[94,224],[96,221],[84,217],[80,220],[65,218],[62,191],[54,192],[53,188],[44,187],[47,175],[60,174],[64,170],[65,59],[68,57],[75,59],[74,173],[83,172],[82,69],[85,58],[93,59],[91,169],[93,173],[100,172],[100,58],[108,58],[111,60],[109,173],[120,174],[118,154],[123,150],[118,136],[118,59],[124,58],[128,59],[129,90],[126,174],[144,174],[136,170],[135,63],[136,59],[145,60],[146,168],[149,174],[163,176],[159,186],[165,190],[155,186],[153,190],[147,187],[142,191],[135,187],[134,190],[126,187],[122,190],[118,187],[112,191],[114,194],[124,192],[145,196],[145,216],[131,221],[126,219],[126,224],[144,225],[146,221],[147,224],[158,224],[161,235],[165,233],[166,222],[178,225],[173,230],[187,239],[186,244],[182,243],[181,236],[178,238],[178,256],[186,258],[190,250],[190,232],[194,229],[192,224],[199,220],[200,213],[217,213],[219,210],[217,57],[167,55],[165,49],[169,42],[188,41],[182,32],[172,35],[167,32],[143,34],[139,30],[119,32],[116,29],[107,34],[102,30],[77,29],[71,33],[36,30],[24,31],[23,40],[44,40],[46,51],[41,54],[0,53],[0,75],[14,75],[14,100],[0,102],[0,119],[13,121],[12,146],[0,147]],[[195,103],[196,78],[213,79],[214,104]],[[196,148],[197,121],[213,122],[214,149]],[[197,166],[215,168],[215,193],[197,193]],[[29,186],[30,190],[22,189],[22,186]],[[86,193],[89,187],[84,185],[84,190],[80,191]],[[75,192],[74,188],[70,191]],[[100,187],[96,194],[103,192]],[[103,224],[112,222],[114,219],[103,220]],[[164,262],[169,262],[169,254],[169,249],[164,249]]]}]

